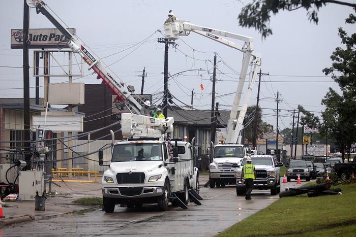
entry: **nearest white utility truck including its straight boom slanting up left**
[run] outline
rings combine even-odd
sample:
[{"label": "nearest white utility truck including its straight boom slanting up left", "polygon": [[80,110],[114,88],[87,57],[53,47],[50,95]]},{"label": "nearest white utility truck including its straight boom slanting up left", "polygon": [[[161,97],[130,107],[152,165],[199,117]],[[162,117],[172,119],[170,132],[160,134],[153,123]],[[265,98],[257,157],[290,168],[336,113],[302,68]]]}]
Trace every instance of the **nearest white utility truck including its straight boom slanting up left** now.
[{"label": "nearest white utility truck including its straight boom slanting up left", "polygon": [[[128,138],[127,141],[111,144],[110,164],[102,178],[105,212],[113,212],[116,204],[133,208],[157,203],[161,211],[168,210],[169,202],[183,209],[188,208],[188,200],[201,205],[199,174],[193,165],[192,146],[187,142],[175,141],[171,149],[170,139],[167,139],[173,131],[173,118],[158,119],[141,115],[141,105],[125,87],[125,83],[67,29],[43,1],[27,0],[27,4],[36,8],[38,14],[46,16],[67,37],[69,48],[89,65],[88,70],[93,70],[97,79],[102,79],[111,88],[116,100],[136,113],[122,114],[122,134]],[[102,149],[98,152],[100,165],[103,165]]]}]

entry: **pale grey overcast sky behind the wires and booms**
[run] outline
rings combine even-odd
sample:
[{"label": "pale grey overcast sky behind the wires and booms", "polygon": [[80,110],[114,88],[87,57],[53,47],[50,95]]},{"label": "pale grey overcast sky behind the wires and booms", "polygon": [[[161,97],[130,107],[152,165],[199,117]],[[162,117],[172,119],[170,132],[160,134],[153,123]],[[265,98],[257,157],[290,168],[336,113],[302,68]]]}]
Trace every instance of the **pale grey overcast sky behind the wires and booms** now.
[{"label": "pale grey overcast sky behind the wires and booms", "polygon": [[[260,98],[269,97],[260,101],[262,108],[268,108],[263,109],[263,120],[274,127],[276,117],[272,109],[276,108],[276,103],[271,97],[276,97],[277,91],[282,94],[280,109],[292,110],[301,104],[310,111],[323,110],[320,102],[328,88],[338,89],[338,85],[322,73],[324,67],[331,65],[332,52],[342,46],[337,35],[338,27],[343,26],[348,32],[354,32],[352,26],[344,23],[352,9],[335,4],[320,9],[318,25],[308,21],[304,9],[280,12],[271,19],[273,35],[262,40],[255,29],[238,25],[237,17],[243,6],[239,1],[47,0],[45,3],[68,26],[76,28],[79,38],[96,55],[105,57],[116,53],[103,61],[107,65],[113,63],[110,69],[125,83],[134,85],[136,93],[140,92],[139,75],[144,66],[147,72],[144,93],[163,90],[164,45],[157,43],[157,38],[163,36],[156,30],[164,32],[163,22],[170,9],[180,20],[254,38],[255,51],[262,55],[262,73],[270,73],[270,76],[263,76],[261,81]],[[10,29],[22,28],[23,1],[6,1],[0,9],[0,17],[0,88],[21,88],[22,69],[3,66],[22,65],[22,50],[10,49]],[[35,9],[31,9],[30,28],[53,28],[53,25],[43,15],[37,15]],[[143,44],[137,44],[139,42]],[[172,75],[190,69],[205,71],[184,73],[171,79],[169,89],[174,96],[190,104],[191,90],[194,89],[193,105],[199,109],[210,108],[214,52],[218,53],[217,96],[236,91],[236,73],[241,70],[240,51],[194,33],[182,37],[177,43],[179,46],[176,50],[169,49],[169,73]],[[120,52],[124,49],[127,50]],[[33,50],[29,55],[32,66]],[[88,74],[86,66],[84,69],[84,75]],[[32,73],[31,69],[30,75]],[[30,86],[35,86],[32,76],[30,81]],[[61,81],[64,79],[51,78],[51,82]],[[92,75],[76,82],[100,83]],[[203,84],[204,90],[200,89],[200,84]],[[0,90],[0,93],[0,97],[23,97],[22,89]],[[250,105],[256,104],[256,95],[257,83]],[[30,96],[35,97],[35,88],[30,89]],[[42,88],[40,96],[43,96]],[[233,94],[220,96],[216,101],[220,103],[220,109],[230,109],[232,99]],[[280,115],[280,129],[290,127],[288,112],[281,111]]]}]

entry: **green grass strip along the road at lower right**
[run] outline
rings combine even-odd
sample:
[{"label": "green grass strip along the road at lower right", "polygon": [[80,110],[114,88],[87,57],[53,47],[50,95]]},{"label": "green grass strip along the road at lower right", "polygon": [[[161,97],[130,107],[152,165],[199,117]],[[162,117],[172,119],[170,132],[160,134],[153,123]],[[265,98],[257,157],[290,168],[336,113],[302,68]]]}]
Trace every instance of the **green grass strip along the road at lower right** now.
[{"label": "green grass strip along the road at lower right", "polygon": [[283,197],[217,236],[355,236],[356,183],[333,188],[342,195]]}]

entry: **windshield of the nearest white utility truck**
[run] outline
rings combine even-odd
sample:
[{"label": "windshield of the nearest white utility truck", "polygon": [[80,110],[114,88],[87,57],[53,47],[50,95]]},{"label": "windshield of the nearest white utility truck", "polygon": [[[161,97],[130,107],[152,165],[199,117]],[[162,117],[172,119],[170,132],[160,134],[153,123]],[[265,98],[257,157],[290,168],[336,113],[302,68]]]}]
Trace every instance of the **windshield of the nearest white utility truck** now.
[{"label": "windshield of the nearest white utility truck", "polygon": [[111,162],[162,160],[161,144],[118,144],[112,151]]}]

